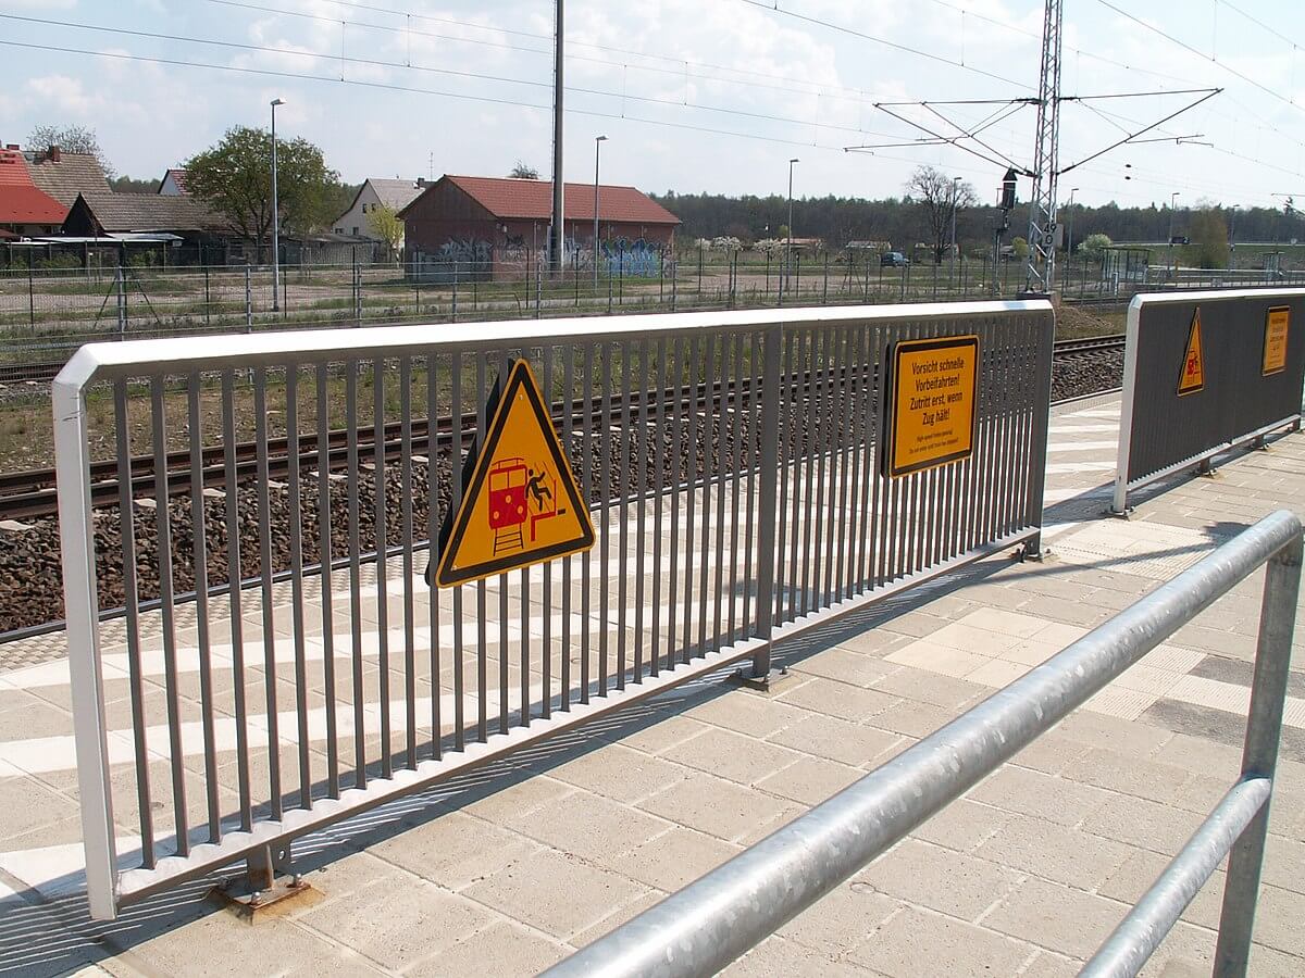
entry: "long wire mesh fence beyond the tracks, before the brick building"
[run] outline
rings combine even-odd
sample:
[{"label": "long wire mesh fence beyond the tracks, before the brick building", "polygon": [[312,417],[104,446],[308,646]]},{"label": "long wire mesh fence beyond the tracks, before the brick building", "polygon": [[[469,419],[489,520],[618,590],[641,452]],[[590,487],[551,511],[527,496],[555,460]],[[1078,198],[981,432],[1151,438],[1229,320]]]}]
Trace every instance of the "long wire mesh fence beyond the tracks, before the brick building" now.
[{"label": "long wire mesh fence beyond the tracks, before the brick building", "polygon": [[[1300,274],[1297,274],[1300,275]],[[1058,270],[1066,299],[1128,299],[1143,288],[1282,286],[1292,273],[1152,267],[1144,282],[1101,275],[1075,258]],[[1300,275],[1305,280],[1305,275]],[[611,262],[552,271],[514,263],[283,265],[275,288],[268,266],[176,269],[110,266],[0,271],[0,363],[54,363],[103,339],[761,308],[1013,297],[1024,286],[1019,261],[967,259],[893,266],[876,253],[817,256],[696,250],[677,258]]]}]

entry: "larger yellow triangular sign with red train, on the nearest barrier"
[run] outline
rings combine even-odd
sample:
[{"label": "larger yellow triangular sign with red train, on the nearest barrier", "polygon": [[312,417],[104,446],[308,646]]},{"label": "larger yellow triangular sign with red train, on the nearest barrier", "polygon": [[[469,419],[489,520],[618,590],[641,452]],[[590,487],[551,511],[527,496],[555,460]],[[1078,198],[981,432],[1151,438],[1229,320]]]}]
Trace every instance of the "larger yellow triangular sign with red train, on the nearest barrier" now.
[{"label": "larger yellow triangular sign with red train, on the nearest barrier", "polygon": [[500,385],[462,503],[441,535],[440,587],[579,553],[594,545],[589,506],[525,360]]}]

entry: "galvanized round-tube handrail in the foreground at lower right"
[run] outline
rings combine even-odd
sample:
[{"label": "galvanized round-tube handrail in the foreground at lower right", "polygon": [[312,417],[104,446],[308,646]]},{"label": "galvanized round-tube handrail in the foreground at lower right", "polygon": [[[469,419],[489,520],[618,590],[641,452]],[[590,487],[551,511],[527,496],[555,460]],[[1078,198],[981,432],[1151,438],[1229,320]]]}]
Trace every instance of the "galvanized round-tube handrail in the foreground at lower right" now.
[{"label": "galvanized round-tube handrail in the foreground at lower right", "polygon": [[851,788],[577,952],[549,978],[709,975],[810,908],[1268,565],[1242,772],[1081,974],[1135,975],[1231,854],[1215,975],[1245,975],[1301,578],[1301,523],[1266,516]]}]

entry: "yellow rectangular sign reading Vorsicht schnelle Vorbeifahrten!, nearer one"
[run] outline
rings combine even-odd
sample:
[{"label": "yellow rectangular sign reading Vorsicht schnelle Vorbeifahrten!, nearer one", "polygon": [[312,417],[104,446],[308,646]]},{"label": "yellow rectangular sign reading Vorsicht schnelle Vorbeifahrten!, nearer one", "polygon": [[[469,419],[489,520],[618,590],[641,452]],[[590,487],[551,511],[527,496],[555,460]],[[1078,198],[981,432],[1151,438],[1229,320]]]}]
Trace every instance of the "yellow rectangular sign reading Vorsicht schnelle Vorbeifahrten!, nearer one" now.
[{"label": "yellow rectangular sign reading Vorsicht schnelle Vorbeifahrten!, nearer one", "polygon": [[970,458],[979,336],[902,340],[890,357],[887,475],[895,479]]}]

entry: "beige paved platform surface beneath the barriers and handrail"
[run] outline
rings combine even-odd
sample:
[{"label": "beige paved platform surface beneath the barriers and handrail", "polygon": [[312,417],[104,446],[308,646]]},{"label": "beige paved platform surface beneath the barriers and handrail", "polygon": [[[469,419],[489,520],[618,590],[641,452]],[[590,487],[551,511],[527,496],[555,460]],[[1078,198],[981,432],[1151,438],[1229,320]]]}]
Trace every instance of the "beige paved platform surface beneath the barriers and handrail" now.
[{"label": "beige paved platform surface beneath the barriers and handrail", "polygon": [[[87,919],[61,636],[0,648],[0,974],[532,974],[1259,516],[1305,511],[1296,434],[1108,518],[1117,425],[1117,398],[1054,412],[1051,559],[994,557],[817,630],[780,651],[792,678],[773,694],[694,682],[305,840],[296,863],[317,898],[254,926],[205,898],[211,880]],[[1262,579],[729,973],[1075,974],[1237,773]],[[1305,614],[1296,635],[1255,975],[1305,974]],[[1146,974],[1210,973],[1220,892],[1221,875]]]}]

